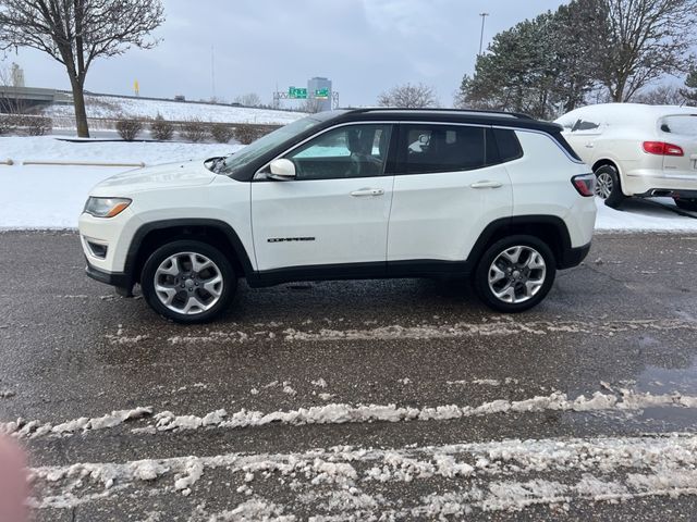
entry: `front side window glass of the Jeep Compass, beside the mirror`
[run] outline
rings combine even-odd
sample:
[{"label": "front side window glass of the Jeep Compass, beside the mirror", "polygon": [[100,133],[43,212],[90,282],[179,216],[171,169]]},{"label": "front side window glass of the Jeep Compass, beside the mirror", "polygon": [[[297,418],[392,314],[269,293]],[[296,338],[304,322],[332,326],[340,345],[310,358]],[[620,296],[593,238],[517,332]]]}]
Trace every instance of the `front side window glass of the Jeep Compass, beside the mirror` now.
[{"label": "front side window glass of the Jeep Compass, beside the mirror", "polygon": [[381,176],[390,147],[391,125],[345,125],[311,139],[285,158],[296,179]]}]

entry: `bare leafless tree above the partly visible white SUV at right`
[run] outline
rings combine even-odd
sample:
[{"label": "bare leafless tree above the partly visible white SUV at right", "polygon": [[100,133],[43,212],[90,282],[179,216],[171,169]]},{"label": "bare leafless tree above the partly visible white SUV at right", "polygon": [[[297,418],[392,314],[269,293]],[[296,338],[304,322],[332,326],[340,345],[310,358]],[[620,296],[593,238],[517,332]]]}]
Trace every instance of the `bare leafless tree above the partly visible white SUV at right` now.
[{"label": "bare leafless tree above the partly visible white SUV at right", "polygon": [[631,101],[645,86],[694,64],[697,0],[600,0],[607,12],[598,79],[612,101]]}]

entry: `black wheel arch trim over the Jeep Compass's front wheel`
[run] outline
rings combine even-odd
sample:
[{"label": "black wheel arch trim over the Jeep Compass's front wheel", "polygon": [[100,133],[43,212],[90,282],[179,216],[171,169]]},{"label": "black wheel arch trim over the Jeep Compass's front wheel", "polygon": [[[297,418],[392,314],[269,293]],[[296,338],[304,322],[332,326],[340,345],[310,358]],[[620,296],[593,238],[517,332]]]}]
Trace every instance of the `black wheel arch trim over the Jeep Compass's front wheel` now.
[{"label": "black wheel arch trim over the Jeep Compass's front wheel", "polygon": [[146,223],[136,231],[124,269],[131,284],[139,282],[143,266],[156,249],[179,239],[195,239],[218,248],[230,259],[236,274],[248,276],[254,272],[244,245],[228,223],[207,219],[164,220]]}]

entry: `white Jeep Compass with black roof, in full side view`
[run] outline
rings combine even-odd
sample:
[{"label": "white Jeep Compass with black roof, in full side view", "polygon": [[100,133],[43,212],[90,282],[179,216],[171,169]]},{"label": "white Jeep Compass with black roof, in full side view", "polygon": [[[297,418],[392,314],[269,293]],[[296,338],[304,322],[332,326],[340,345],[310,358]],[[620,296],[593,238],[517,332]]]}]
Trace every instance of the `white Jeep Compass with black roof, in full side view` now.
[{"label": "white Jeep Compass with black roof, in full side view", "polygon": [[508,113],[313,115],[224,158],[127,172],[80,219],[87,274],[183,323],[237,278],[473,278],[491,308],[540,302],[588,253],[595,176],[561,128]]}]

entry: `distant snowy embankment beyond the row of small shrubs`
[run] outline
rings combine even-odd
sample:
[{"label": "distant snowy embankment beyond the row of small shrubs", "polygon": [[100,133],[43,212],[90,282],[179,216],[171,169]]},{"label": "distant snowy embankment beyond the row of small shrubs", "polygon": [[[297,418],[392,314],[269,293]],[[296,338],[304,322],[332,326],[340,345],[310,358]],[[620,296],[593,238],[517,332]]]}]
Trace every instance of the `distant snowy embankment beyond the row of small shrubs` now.
[{"label": "distant snowy embankment beyond the row of small shrubs", "polygon": [[[198,119],[204,122],[286,124],[306,114],[301,112],[252,109],[244,107],[217,105],[210,103],[186,103],[167,100],[136,100],[88,96],[87,117],[114,119],[137,116],[154,119],[161,114],[164,120],[185,121]],[[72,105],[51,105],[44,111],[47,116],[74,117]]]}]

